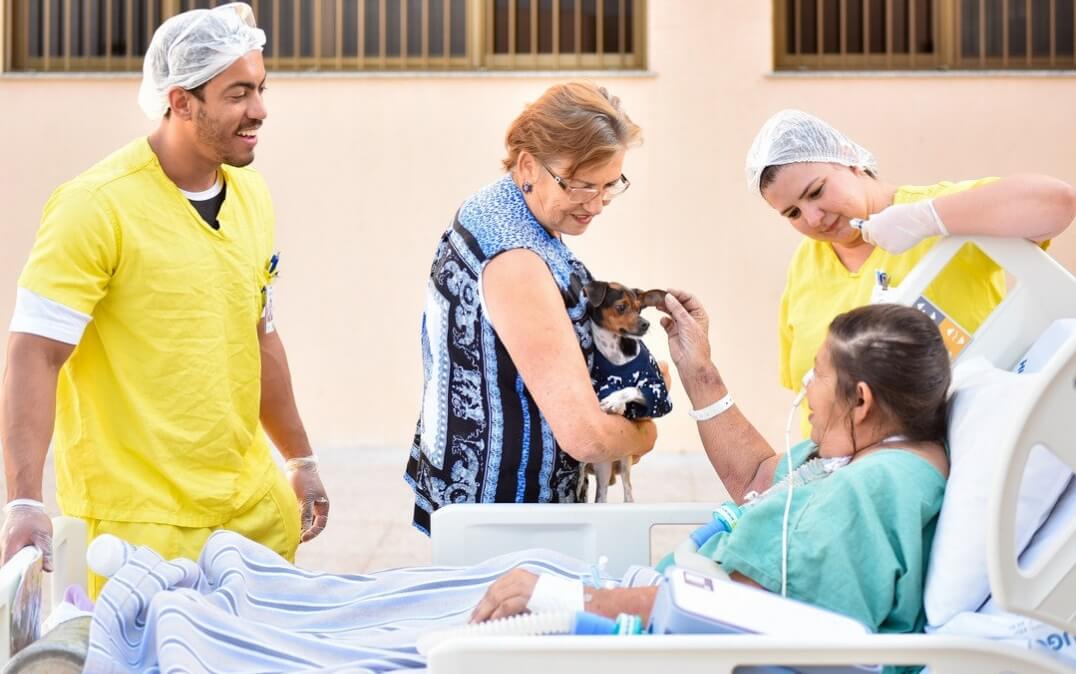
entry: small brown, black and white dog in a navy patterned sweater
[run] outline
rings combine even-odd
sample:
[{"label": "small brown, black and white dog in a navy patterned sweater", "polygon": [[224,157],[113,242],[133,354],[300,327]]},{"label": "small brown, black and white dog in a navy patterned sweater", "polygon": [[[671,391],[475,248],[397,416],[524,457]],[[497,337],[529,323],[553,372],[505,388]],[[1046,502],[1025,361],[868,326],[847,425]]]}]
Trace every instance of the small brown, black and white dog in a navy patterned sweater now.
[{"label": "small brown, black and white dog in a navy patterned sweater", "polygon": [[[581,285],[581,284],[580,284]],[[591,382],[601,410],[628,419],[651,419],[672,409],[668,389],[657,362],[642,342],[650,322],[642,318],[647,307],[665,301],[665,291],[627,287],[620,283],[592,281],[582,286],[594,337]],[[624,502],[632,503],[632,459],[590,464],[597,486],[595,503],[605,503],[610,485],[620,475]],[[582,480],[585,489],[585,473]]]}]

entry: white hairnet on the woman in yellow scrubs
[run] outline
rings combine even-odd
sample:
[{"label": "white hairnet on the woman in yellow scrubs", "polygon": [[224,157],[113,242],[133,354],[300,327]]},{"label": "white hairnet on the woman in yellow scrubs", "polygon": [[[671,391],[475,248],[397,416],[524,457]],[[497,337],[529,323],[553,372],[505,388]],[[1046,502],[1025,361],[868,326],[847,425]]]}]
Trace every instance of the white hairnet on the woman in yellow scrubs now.
[{"label": "white hairnet on the woman in yellow scrubs", "polygon": [[758,194],[767,166],[824,162],[878,171],[874,155],[815,115],[782,110],[762,125],[747,152],[748,189]]}]

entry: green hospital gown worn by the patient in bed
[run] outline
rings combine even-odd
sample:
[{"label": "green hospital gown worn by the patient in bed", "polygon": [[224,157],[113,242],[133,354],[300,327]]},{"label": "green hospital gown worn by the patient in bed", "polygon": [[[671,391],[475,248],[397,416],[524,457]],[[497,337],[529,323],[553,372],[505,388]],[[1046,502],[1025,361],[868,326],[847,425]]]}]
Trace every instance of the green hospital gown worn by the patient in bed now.
[{"label": "green hospital gown worn by the patient in bed", "polygon": [[[816,449],[792,448],[799,466]],[[787,473],[781,461],[774,481]],[[923,585],[945,478],[924,459],[877,451],[793,491],[789,596],[854,618],[881,633],[921,632]],[[784,492],[759,503],[731,534],[699,552],[781,591]]]}]

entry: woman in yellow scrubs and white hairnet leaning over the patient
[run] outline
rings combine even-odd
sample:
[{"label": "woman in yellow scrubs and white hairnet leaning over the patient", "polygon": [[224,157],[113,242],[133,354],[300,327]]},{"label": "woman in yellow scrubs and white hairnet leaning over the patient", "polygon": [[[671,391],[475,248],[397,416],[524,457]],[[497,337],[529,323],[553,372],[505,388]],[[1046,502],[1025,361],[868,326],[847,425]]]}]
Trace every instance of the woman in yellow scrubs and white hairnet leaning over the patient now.
[{"label": "woman in yellow scrubs and white hairnet leaning over the patient", "polygon": [[[763,125],[746,164],[748,188],[806,237],[789,264],[780,306],[780,377],[793,390],[833,317],[870,301],[876,272],[900,284],[939,236],[1021,237],[1045,244],[1076,216],[1073,188],[1045,175],[888,183],[869,152],[797,110]],[[969,335],[1004,293],[1002,270],[969,248],[926,297]]]}]

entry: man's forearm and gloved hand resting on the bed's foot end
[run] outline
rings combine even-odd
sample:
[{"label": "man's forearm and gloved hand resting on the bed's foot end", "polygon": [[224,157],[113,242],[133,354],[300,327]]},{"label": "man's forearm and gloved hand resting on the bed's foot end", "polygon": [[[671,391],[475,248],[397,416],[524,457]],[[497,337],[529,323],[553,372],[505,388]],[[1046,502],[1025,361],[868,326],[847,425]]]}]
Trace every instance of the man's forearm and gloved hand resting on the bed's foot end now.
[{"label": "man's forearm and gloved hand resting on the bed's foot end", "polygon": [[[72,351],[72,345],[27,333],[12,333],[8,339],[0,443],[9,502],[42,501],[41,478],[56,421],[56,380]],[[43,509],[10,509],[0,534],[3,561],[37,545],[45,571],[52,571],[52,532]]]}]

